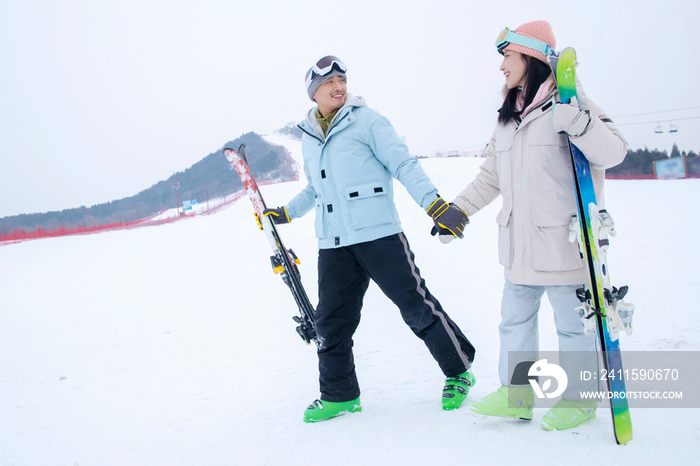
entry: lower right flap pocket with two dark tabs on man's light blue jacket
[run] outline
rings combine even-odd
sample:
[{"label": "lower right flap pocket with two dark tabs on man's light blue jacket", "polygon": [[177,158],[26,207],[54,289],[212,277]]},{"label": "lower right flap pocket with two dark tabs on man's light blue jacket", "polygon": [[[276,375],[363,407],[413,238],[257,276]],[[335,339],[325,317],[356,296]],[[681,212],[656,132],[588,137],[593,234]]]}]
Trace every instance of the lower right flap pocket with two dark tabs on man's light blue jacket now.
[{"label": "lower right flap pocket with two dark tabs on man's light blue jacket", "polygon": [[345,200],[348,203],[354,230],[395,221],[384,182],[348,188],[345,190]]}]

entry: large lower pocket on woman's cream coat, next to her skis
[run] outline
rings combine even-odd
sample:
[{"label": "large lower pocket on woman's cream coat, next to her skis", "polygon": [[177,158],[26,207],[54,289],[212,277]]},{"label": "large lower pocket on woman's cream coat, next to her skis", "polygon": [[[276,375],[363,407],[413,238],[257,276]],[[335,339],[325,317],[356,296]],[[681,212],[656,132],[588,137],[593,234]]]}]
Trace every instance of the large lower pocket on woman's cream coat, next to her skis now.
[{"label": "large lower pocket on woman's cream coat, next to her skis", "polygon": [[[532,231],[532,268],[541,272],[565,272],[583,267],[578,244],[569,242],[569,221],[544,221]],[[556,223],[556,224],[555,224]]]}]

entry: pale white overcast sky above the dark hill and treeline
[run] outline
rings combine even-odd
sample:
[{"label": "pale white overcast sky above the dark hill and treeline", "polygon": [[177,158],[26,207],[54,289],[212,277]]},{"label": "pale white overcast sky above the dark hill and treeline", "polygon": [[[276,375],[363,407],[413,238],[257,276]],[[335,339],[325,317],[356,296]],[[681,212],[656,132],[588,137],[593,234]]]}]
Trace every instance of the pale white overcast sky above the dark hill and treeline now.
[{"label": "pale white overcast sky above the dark hill and treeline", "polygon": [[297,122],[304,74],[327,54],[414,154],[478,149],[504,83],[495,38],[536,19],[576,48],[588,96],[632,148],[700,152],[698,5],[0,0],[0,217],[130,196]]}]

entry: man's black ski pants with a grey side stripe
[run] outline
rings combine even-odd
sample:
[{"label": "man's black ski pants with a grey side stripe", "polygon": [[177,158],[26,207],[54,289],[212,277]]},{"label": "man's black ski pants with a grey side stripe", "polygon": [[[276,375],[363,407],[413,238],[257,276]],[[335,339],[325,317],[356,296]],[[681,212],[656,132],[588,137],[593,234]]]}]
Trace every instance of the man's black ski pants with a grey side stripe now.
[{"label": "man's black ski pants with a grey side stripe", "polygon": [[341,402],[360,396],[352,337],[370,279],[398,306],[445,376],[461,374],[471,366],[474,347],[426,288],[403,233],[321,249],[316,332],[322,400]]}]

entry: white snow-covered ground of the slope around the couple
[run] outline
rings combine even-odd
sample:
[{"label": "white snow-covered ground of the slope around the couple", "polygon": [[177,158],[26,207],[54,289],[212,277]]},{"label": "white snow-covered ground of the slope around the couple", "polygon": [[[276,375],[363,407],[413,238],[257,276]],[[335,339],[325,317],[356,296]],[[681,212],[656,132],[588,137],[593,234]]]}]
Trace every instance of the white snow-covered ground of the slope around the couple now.
[{"label": "white snow-covered ground of the slope around the couple", "polygon": [[[299,143],[271,137],[300,159]],[[480,159],[422,160],[450,199]],[[282,205],[303,181],[263,187]],[[477,348],[469,400],[498,386],[501,267],[495,215],[442,245],[397,184],[404,228],[427,285]],[[700,180],[608,181],[617,223],[609,262],[630,286],[625,350],[698,351]],[[316,301],[313,214],[280,228]],[[615,444],[609,411],[579,428],[440,409],[443,376],[372,285],[356,335],[361,413],[305,424],[316,355],[242,199],[212,216],[152,228],[0,247],[0,465],[694,464],[698,409],[633,409]],[[555,350],[546,300],[541,349]]]}]

